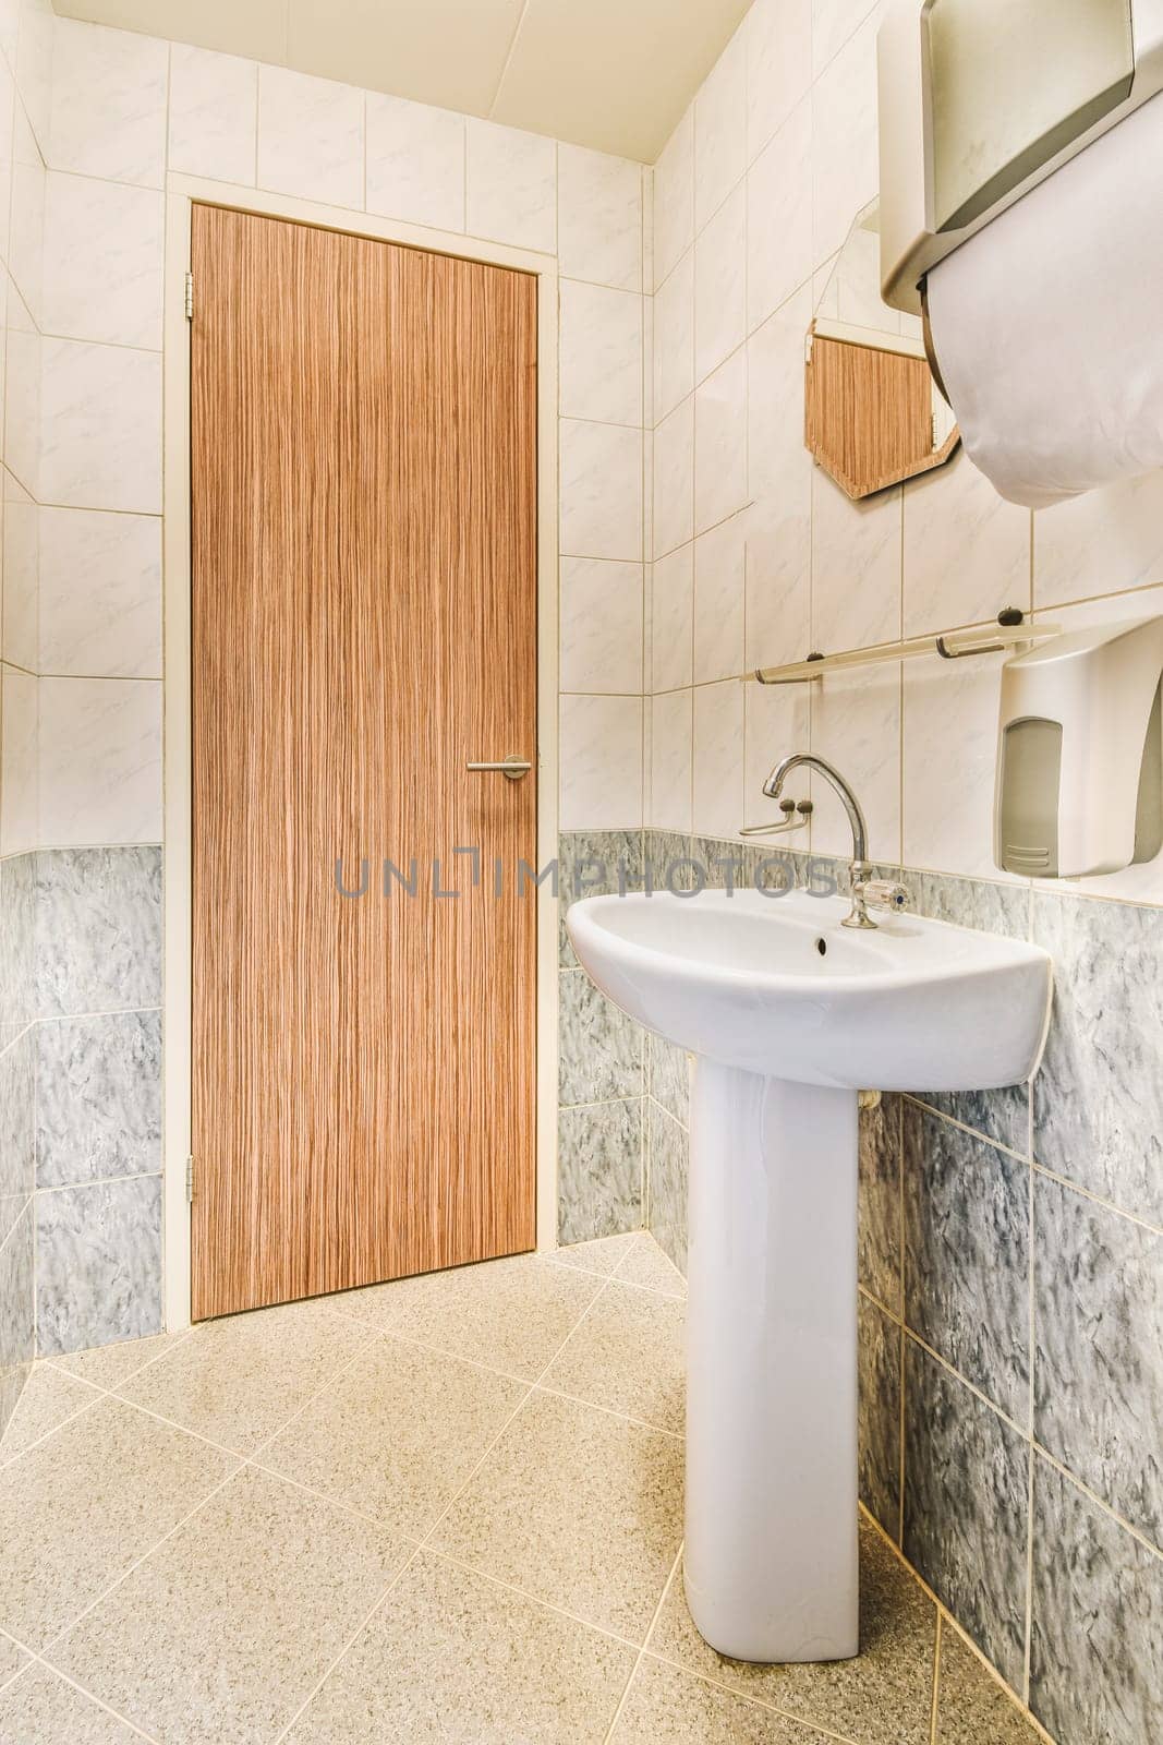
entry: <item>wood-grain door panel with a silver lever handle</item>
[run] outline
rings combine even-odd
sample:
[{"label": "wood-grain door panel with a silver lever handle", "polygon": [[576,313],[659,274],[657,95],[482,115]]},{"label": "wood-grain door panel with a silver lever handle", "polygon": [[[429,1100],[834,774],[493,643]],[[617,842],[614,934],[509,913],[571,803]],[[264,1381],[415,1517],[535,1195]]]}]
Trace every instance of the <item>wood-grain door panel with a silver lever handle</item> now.
[{"label": "wood-grain door panel with a silver lever handle", "polygon": [[211,206],[192,269],[201,1319],[535,1242],[535,773],[466,764],[535,757],[537,286]]}]

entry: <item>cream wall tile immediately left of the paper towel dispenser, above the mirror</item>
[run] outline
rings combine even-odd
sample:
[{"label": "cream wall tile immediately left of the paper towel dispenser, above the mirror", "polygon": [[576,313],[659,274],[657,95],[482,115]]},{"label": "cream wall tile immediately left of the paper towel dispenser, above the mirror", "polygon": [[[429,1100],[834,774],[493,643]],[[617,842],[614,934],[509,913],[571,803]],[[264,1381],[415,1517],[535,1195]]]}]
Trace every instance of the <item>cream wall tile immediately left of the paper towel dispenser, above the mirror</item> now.
[{"label": "cream wall tile immediately left of the paper towel dispenser, above the mirror", "polygon": [[877,42],[868,19],[813,92],[813,257],[826,260],[877,192]]}]

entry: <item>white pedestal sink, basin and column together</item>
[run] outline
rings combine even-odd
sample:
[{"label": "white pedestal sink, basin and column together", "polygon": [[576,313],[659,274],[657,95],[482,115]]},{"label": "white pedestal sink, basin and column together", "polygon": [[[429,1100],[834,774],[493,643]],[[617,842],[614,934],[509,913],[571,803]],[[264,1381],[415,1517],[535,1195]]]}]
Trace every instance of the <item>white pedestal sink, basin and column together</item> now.
[{"label": "white pedestal sink, basin and column together", "polygon": [[840,897],[593,897],[567,927],[631,1017],[697,1056],[690,1108],[690,1614],[736,1659],[856,1654],[856,1092],[1037,1066],[1050,958]]}]

